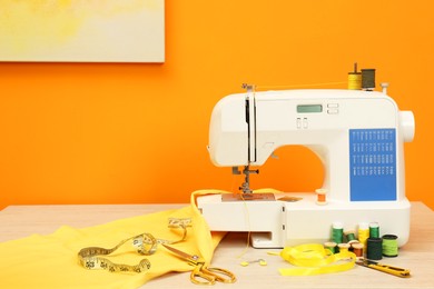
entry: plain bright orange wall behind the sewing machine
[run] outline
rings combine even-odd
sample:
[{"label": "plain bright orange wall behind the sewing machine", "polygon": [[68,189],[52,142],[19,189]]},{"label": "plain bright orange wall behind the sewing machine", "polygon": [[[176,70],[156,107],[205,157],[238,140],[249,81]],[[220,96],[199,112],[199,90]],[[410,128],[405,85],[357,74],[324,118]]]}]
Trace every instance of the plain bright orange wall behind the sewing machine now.
[{"label": "plain bright orange wall behind the sewing machine", "polygon": [[[241,179],[206,150],[214,104],[243,82],[345,81],[354,61],[376,68],[377,83],[414,111],[407,196],[434,208],[433,10],[404,0],[167,0],[164,64],[0,63],[0,208],[187,202],[197,189],[234,189]],[[320,186],[313,153],[278,155],[254,188]]]}]

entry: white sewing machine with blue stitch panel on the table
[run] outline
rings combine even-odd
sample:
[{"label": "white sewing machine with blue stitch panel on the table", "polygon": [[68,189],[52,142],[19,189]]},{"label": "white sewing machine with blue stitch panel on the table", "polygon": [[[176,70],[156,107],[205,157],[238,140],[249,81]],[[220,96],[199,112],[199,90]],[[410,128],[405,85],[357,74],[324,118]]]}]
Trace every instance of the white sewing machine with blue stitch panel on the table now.
[{"label": "white sewing machine with blue stitch panel on the table", "polygon": [[[337,221],[354,230],[378,222],[381,236],[398,236],[401,247],[408,240],[411,208],[404,142],[413,140],[414,130],[413,113],[400,111],[385,91],[230,94],[214,108],[208,150],[218,167],[236,172],[244,166],[244,193],[199,197],[198,208],[210,230],[250,231],[256,248],[324,242]],[[322,160],[326,205],[317,205],[315,193],[251,193],[249,175],[256,171],[249,166],[264,165],[288,144],[305,146]]]}]

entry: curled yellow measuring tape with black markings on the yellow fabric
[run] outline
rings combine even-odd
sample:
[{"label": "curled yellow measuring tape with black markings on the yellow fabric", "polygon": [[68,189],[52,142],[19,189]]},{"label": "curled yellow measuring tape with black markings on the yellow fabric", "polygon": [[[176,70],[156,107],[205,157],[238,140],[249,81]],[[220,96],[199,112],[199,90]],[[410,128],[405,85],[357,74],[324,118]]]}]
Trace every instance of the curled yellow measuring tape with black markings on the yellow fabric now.
[{"label": "curled yellow measuring tape with black markings on the yellow fabric", "polygon": [[131,238],[121,240],[111,249],[100,247],[87,247],[78,252],[79,263],[86,269],[105,269],[110,272],[144,272],[149,270],[150,262],[148,259],[142,259],[138,265],[115,263],[107,258],[100,256],[108,256],[119,249],[124,243],[132,240],[132,246],[137,252],[142,256],[149,256],[157,251],[158,243],[177,243],[184,241],[187,237],[187,227],[191,227],[191,219],[169,218],[169,228],[183,229],[183,237],[179,240],[169,241],[157,239],[150,233],[141,233]]}]

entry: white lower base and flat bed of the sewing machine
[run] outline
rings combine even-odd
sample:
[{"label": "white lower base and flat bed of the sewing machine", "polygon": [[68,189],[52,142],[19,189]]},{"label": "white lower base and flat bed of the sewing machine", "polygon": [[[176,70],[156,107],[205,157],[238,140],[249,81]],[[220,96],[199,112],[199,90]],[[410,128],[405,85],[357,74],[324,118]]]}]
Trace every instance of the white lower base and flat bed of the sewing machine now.
[{"label": "white lower base and flat bed of the sewing machine", "polygon": [[[225,200],[221,195],[204,196],[197,205],[211,231],[250,231],[255,248],[283,248],[328,241],[333,222],[357,230],[361,222],[378,222],[381,236],[398,237],[404,246],[410,235],[407,199],[317,205],[314,193],[276,195],[276,200]],[[284,201],[292,200],[292,201]]]}]

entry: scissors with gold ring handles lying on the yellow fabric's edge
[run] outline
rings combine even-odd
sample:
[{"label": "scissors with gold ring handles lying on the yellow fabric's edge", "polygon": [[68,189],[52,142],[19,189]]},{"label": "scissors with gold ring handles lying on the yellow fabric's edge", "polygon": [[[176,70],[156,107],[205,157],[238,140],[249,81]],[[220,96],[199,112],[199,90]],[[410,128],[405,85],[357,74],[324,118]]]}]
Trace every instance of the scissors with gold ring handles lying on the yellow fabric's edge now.
[{"label": "scissors with gold ring handles lying on the yellow fabric's edge", "polygon": [[190,275],[190,280],[196,285],[215,285],[216,282],[234,283],[237,280],[235,275],[229,270],[206,267],[205,260],[197,255],[189,255],[167,245],[162,246],[179,258],[186,260],[189,265],[195,266]]}]

